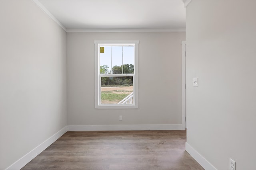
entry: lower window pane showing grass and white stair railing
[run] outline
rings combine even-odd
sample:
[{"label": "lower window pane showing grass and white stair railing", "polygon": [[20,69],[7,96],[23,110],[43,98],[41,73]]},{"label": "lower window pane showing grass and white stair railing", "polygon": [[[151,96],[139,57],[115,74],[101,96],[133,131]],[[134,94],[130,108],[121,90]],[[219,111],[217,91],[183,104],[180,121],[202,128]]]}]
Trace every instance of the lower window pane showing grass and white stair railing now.
[{"label": "lower window pane showing grass and white stair railing", "polygon": [[134,104],[133,77],[101,77],[100,104]]}]

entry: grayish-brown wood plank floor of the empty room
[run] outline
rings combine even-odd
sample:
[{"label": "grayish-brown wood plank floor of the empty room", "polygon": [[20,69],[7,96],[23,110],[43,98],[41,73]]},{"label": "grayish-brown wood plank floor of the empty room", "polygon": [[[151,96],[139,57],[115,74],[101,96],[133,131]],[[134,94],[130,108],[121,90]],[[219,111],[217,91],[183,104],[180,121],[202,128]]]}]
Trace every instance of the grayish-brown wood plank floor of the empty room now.
[{"label": "grayish-brown wood plank floor of the empty room", "polygon": [[186,131],[69,131],[22,170],[204,170]]}]

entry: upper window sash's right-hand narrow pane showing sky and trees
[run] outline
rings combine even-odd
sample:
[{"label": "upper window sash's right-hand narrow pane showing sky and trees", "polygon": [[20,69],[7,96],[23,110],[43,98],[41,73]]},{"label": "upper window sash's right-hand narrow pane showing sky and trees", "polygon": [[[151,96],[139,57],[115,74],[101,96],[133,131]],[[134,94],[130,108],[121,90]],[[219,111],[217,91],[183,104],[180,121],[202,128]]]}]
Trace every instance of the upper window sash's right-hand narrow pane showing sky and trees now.
[{"label": "upper window sash's right-hand narrow pane showing sky and trees", "polygon": [[134,46],[123,47],[124,74],[134,73]]}]

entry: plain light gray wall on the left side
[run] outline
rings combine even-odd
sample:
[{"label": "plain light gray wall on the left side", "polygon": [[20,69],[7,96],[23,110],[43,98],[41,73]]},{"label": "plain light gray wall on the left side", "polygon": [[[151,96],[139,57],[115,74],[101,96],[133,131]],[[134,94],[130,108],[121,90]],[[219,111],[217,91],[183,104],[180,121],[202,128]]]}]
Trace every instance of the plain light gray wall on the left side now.
[{"label": "plain light gray wall on the left side", "polygon": [[0,1],[0,169],[67,125],[66,32],[31,0]]}]

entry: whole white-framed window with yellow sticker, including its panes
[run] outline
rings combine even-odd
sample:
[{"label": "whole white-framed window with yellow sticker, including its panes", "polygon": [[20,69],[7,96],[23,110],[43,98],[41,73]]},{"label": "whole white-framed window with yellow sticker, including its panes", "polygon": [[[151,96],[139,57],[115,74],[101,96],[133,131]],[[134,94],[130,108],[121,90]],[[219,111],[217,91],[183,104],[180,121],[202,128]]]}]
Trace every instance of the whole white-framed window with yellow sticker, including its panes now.
[{"label": "whole white-framed window with yellow sticker, including its panes", "polygon": [[138,108],[139,41],[94,41],[95,108]]}]

